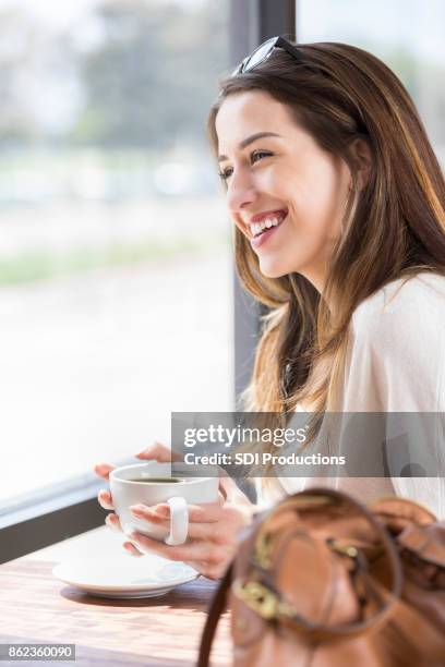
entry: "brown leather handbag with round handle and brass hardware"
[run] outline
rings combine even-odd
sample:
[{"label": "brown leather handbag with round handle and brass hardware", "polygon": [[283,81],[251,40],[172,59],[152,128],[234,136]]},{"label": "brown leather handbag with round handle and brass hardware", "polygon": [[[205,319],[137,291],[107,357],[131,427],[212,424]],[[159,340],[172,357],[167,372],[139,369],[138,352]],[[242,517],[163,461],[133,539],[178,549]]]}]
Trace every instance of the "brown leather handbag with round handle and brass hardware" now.
[{"label": "brown leather handbag with round handle and brass hardware", "polygon": [[212,602],[230,592],[237,667],[445,665],[445,522],[392,497],[314,488],[257,517]]}]

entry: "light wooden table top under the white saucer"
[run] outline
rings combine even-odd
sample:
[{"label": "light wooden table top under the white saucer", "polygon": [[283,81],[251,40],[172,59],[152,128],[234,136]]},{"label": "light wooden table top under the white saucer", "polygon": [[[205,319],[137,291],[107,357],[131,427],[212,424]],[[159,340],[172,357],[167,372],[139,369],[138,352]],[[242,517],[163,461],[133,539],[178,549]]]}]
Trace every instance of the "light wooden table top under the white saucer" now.
[{"label": "light wooden table top under the white saucer", "polygon": [[[52,577],[52,567],[63,557],[79,557],[87,550],[91,553],[94,546],[97,549],[98,545],[106,555],[110,539],[107,529],[98,529],[0,566],[0,643],[75,644],[75,663],[48,663],[65,667],[195,665],[214,582],[200,578],[163,597],[107,599],[83,593]],[[132,557],[125,555],[125,558]],[[226,614],[220,621],[212,665],[229,665],[230,657]],[[0,667],[7,664],[44,663],[0,662]]]}]

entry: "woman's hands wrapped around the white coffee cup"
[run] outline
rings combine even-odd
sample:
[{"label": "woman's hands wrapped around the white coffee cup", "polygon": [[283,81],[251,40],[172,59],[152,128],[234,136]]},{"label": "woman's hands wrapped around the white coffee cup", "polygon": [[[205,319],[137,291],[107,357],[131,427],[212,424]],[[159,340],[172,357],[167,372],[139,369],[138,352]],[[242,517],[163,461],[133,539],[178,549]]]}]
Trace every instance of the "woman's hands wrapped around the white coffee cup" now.
[{"label": "woman's hands wrapped around the white coffee cup", "polygon": [[[136,458],[166,462],[171,460],[171,451],[165,445],[155,442],[136,454]],[[108,480],[113,468],[108,463],[99,463],[95,471]],[[123,547],[133,556],[152,551],[169,560],[181,560],[204,577],[218,579],[232,559],[239,532],[250,523],[254,510],[254,506],[230,477],[219,480],[219,490],[216,502],[189,505],[189,534],[184,544],[168,546],[135,531],[129,535],[131,542],[124,542]],[[110,492],[100,490],[98,500],[105,509],[113,509]],[[147,523],[165,527],[169,525],[170,508],[167,502],[154,507],[133,505],[130,510],[134,517]],[[112,530],[122,530],[115,513],[108,514],[105,522]]]}]

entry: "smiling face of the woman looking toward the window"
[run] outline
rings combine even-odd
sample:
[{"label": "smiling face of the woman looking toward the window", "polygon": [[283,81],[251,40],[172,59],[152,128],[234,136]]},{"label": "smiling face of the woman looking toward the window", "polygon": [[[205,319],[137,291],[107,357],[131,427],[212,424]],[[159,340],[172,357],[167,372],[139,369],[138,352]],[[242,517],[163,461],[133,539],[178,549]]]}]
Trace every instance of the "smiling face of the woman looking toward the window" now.
[{"label": "smiling face of the woman looking toward the window", "polygon": [[261,271],[270,278],[296,271],[322,291],[351,183],[346,162],[260,90],[229,95],[216,132],[227,205]]}]

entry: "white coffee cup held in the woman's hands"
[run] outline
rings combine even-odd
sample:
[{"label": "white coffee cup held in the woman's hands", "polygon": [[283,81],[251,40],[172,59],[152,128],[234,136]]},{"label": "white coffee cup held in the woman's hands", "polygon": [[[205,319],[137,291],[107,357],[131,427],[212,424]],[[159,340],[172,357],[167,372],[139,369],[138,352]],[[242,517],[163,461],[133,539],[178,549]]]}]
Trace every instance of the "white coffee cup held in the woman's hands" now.
[{"label": "white coffee cup held in the woman's hands", "polygon": [[[195,469],[196,470],[196,469]],[[149,482],[151,478],[177,480]],[[134,482],[141,478],[143,482]],[[135,465],[116,468],[109,475],[110,490],[116,513],[124,533],[137,531],[154,539],[177,546],[183,544],[189,533],[188,505],[203,505],[218,499],[218,477],[192,477],[190,465],[148,461]],[[149,524],[131,513],[132,505],[154,506],[167,502],[170,506],[170,531]]]}]

